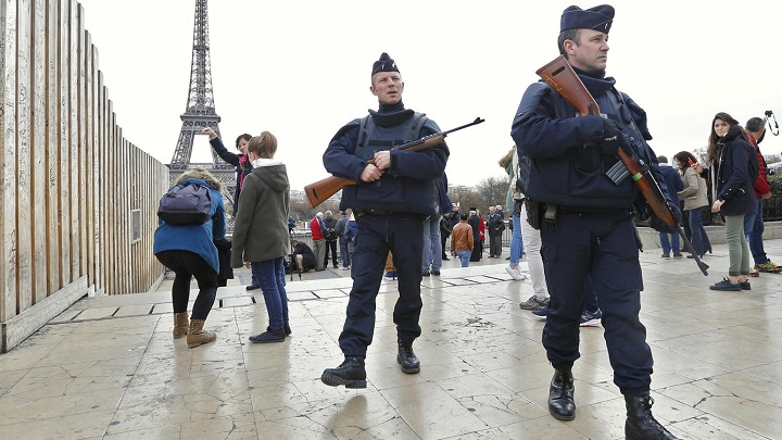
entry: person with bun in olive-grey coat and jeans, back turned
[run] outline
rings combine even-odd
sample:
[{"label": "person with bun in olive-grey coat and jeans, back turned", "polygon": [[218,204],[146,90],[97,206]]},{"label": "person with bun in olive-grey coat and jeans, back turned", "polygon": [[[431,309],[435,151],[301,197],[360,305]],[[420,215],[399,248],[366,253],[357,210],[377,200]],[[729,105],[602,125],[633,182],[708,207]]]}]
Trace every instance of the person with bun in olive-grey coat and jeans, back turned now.
[{"label": "person with bun in olive-grey coat and jeans, back turned", "polygon": [[274,159],[277,138],[268,131],[250,139],[248,156],[253,171],[239,196],[242,206],[234,225],[232,267],[251,267],[263,291],[268,327],[251,336],[252,342],[282,342],[291,334],[285,290],[288,255],[290,185],[285,164]]}]

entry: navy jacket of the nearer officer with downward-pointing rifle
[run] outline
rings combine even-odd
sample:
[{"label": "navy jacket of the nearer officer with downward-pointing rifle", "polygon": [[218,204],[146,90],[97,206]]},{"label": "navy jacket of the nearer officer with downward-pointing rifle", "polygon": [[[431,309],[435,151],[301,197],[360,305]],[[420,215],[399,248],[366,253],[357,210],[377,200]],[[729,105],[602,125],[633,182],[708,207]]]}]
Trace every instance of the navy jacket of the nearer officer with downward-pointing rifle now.
[{"label": "navy jacket of the nearer officer with downward-pointing rifle", "polygon": [[[646,113],[630,97],[614,89],[614,78],[578,75],[601,113],[619,123],[632,138],[636,155],[656,171],[663,193],[667,194],[657,158],[642,140],[652,139]],[[619,109],[615,109],[614,101]],[[633,121],[641,133],[633,128]],[[532,200],[572,208],[628,208],[639,194],[631,178],[615,185],[605,175],[618,159],[601,156],[597,142],[603,138],[603,117],[578,116],[576,109],[545,83],[532,84],[525,91],[510,136],[519,158],[532,159],[526,191]]]}]

